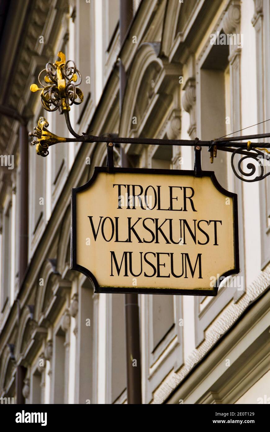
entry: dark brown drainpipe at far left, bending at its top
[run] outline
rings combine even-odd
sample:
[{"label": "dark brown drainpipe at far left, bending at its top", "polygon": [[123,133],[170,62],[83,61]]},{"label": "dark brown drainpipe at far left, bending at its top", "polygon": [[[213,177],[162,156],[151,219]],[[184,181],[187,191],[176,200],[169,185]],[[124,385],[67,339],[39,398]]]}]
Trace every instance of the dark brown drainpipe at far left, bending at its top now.
[{"label": "dark brown drainpipe at far left, bending at its top", "polygon": [[[19,121],[19,152],[20,152],[20,187],[19,187],[19,289],[28,264],[28,131],[26,121],[13,108],[0,105],[0,114]],[[18,325],[19,325],[19,303]],[[16,368],[16,403],[25,403],[22,388],[26,375],[26,368],[17,365]]]}]

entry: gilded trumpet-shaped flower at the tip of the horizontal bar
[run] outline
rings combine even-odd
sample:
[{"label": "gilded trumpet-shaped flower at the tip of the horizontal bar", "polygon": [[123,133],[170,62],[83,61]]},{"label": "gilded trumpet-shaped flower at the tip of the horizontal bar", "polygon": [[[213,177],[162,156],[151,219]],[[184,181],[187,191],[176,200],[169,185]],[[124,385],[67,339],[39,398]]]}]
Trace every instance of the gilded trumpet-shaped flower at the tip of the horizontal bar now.
[{"label": "gilded trumpet-shaped flower at the tip of the horizontal bar", "polygon": [[49,154],[48,148],[56,143],[66,143],[66,138],[58,137],[51,133],[46,127],[49,123],[44,117],[40,117],[38,126],[34,127],[34,132],[29,133],[29,137],[37,137],[38,141],[32,141],[31,144],[36,146],[37,154],[40,156],[47,156]]}]

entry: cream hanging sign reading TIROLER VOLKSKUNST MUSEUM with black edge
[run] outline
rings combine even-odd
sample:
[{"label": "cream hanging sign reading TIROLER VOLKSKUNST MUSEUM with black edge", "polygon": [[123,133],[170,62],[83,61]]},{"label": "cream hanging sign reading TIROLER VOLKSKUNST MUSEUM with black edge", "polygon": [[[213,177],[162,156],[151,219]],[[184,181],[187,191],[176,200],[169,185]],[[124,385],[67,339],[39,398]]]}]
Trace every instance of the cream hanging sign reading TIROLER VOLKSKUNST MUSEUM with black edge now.
[{"label": "cream hanging sign reading TIROLER VOLKSKUNST MUSEUM with black edge", "polygon": [[95,168],[72,189],[71,255],[96,292],[217,295],[239,273],[237,195],[213,172]]}]

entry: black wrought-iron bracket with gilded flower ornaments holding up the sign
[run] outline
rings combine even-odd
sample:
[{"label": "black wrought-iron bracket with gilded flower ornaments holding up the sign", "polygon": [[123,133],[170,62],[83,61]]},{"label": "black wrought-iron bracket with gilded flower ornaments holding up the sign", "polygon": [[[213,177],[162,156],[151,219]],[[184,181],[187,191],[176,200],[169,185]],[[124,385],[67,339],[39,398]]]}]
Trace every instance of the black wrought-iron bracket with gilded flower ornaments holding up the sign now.
[{"label": "black wrought-iron bracket with gilded flower ornaments holding up the sign", "polygon": [[[200,176],[201,169],[201,149],[208,147],[210,152],[210,161],[217,157],[218,151],[231,152],[232,171],[242,181],[254,182],[266,178],[270,175],[270,170],[264,173],[264,167],[270,166],[270,143],[251,143],[253,139],[264,139],[270,137],[270,133],[261,133],[258,135],[245,135],[230,138],[218,138],[211,141],[201,141],[198,138],[195,140],[160,140],[152,138],[121,138],[114,137],[113,143],[110,135],[107,137],[97,137],[88,133],[78,135],[70,123],[69,110],[70,106],[80,104],[83,101],[83,94],[78,85],[82,82],[82,76],[76,68],[73,60],[67,60],[62,52],[58,53],[60,60],[52,63],[47,63],[46,68],[41,71],[38,76],[38,81],[41,88],[36,84],[32,84],[30,89],[32,92],[41,90],[41,105],[47,111],[55,111],[58,109],[60,114],[65,115],[66,125],[72,137],[58,137],[54,133],[47,130],[49,126],[45,118],[40,118],[38,126],[35,127],[30,136],[37,137],[37,141],[32,144],[36,146],[36,151],[40,156],[49,154],[48,148],[57,143],[107,143],[107,170],[113,172],[113,143],[120,144],[144,144],[144,145],[162,145],[162,146],[194,146],[195,150],[195,176]],[[45,75],[44,75],[45,74]],[[239,142],[242,141],[242,142]],[[243,142],[244,141],[244,142]],[[235,158],[236,155],[241,156]],[[269,156],[268,156],[269,155]],[[242,168],[242,163],[250,159],[246,167]],[[234,162],[237,163],[235,168]],[[250,178],[256,175],[257,169],[259,174],[255,178]],[[248,171],[245,171],[248,170]]]}]

